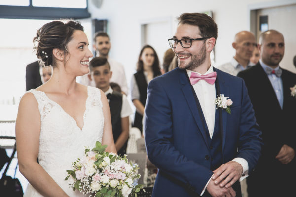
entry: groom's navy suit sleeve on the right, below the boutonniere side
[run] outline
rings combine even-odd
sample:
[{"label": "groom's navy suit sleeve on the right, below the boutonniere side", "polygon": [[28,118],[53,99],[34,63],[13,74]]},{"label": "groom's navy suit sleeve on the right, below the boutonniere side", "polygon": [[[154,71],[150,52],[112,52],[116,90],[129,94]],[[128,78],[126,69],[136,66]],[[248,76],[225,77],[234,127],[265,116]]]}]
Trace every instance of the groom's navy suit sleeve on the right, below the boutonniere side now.
[{"label": "groom's navy suit sleeve on the right, below the boutonniere side", "polygon": [[259,125],[256,123],[255,113],[248,95],[247,87],[242,79],[241,82],[242,104],[237,157],[247,160],[250,174],[250,172],[252,172],[252,170],[255,168],[259,157],[261,156],[263,142],[261,138],[262,132],[259,130]]}]

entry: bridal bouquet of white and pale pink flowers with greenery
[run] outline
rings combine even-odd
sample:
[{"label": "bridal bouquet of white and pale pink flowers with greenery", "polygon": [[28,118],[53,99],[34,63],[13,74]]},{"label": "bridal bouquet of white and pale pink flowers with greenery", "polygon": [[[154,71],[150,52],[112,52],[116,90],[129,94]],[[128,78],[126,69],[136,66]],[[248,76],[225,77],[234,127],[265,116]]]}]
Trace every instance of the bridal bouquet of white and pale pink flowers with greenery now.
[{"label": "bridal bouquet of white and pale pink flowers with greenery", "polygon": [[137,184],[138,165],[129,164],[126,155],[105,152],[106,147],[97,141],[92,150],[85,148],[85,156],[72,163],[65,181],[71,178],[73,190],[89,197],[137,197],[143,189]]}]

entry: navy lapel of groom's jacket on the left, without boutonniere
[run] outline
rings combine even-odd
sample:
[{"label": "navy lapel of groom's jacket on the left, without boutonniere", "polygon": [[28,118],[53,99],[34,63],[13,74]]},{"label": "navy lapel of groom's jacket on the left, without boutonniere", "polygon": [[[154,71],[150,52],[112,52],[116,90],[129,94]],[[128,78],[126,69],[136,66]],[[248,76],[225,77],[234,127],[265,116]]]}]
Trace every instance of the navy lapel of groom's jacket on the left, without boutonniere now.
[{"label": "navy lapel of groom's jacket on the left, without boutonniere", "polygon": [[207,147],[209,148],[209,142],[208,142],[208,137],[206,133],[207,132],[206,123],[203,122],[204,121],[203,112],[201,110],[198,100],[196,101],[197,97],[195,98],[196,94],[194,91],[192,91],[192,86],[188,79],[186,70],[180,69],[180,83],[183,85],[182,92],[187,101],[189,109],[193,115],[193,118],[197,124],[197,127],[201,132]]}]

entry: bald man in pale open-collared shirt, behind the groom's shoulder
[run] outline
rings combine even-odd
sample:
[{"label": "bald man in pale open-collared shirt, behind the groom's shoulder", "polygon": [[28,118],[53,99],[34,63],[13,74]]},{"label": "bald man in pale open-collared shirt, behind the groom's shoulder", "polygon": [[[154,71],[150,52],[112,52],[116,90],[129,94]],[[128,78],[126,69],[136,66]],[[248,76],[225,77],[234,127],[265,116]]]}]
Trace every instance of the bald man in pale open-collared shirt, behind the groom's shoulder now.
[{"label": "bald man in pale open-collared shirt, behind the groom's shoulder", "polygon": [[217,68],[236,76],[238,72],[255,65],[250,62],[253,50],[257,47],[254,34],[249,31],[236,33],[232,47],[235,49],[235,56],[230,62]]}]

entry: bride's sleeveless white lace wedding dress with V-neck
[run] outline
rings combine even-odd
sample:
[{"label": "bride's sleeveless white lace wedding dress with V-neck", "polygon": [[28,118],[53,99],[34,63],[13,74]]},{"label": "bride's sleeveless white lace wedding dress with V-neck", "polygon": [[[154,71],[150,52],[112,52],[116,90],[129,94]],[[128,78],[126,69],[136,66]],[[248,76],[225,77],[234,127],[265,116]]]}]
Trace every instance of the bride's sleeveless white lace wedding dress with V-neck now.
[{"label": "bride's sleeveless white lace wedding dress with V-neck", "polygon": [[[84,147],[92,148],[96,141],[102,141],[104,116],[100,90],[87,87],[88,97],[82,129],[77,126],[74,118],[44,92],[29,92],[34,94],[41,115],[39,164],[70,197],[86,197],[77,190],[73,192],[69,182],[64,179],[67,176],[66,170],[72,167],[72,162],[83,156]],[[24,197],[42,195],[29,184]]]}]

